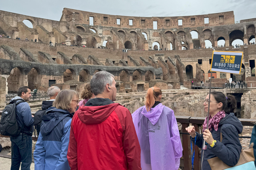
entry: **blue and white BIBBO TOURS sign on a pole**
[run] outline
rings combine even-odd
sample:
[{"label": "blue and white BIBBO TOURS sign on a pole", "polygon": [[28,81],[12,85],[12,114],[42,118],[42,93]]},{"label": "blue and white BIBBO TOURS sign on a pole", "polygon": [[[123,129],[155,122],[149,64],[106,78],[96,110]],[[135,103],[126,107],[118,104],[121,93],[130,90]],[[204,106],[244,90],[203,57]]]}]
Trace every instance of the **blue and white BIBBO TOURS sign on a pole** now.
[{"label": "blue and white BIBBO TOURS sign on a pole", "polygon": [[243,52],[213,51],[211,71],[240,74]]}]

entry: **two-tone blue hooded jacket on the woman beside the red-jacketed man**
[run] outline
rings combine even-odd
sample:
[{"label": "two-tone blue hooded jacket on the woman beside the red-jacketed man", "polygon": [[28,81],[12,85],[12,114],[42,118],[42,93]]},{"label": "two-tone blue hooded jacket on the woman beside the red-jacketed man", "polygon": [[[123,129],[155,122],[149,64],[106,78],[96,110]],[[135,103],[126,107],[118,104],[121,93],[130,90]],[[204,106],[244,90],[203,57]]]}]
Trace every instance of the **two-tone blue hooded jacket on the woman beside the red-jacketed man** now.
[{"label": "two-tone blue hooded jacket on the woman beside the red-jacketed man", "polygon": [[50,107],[42,116],[41,130],[34,151],[35,170],[70,170],[67,152],[73,115]]}]

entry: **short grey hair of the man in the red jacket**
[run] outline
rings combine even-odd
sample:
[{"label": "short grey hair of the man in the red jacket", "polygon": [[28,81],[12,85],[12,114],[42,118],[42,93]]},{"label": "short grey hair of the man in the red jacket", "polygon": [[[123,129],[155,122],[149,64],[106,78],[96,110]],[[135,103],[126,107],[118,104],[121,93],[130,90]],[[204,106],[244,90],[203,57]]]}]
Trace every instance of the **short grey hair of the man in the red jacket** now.
[{"label": "short grey hair of the man in the red jacket", "polygon": [[96,96],[102,93],[107,83],[112,85],[112,77],[115,78],[113,74],[107,71],[99,71],[95,73],[90,81],[93,94]]}]

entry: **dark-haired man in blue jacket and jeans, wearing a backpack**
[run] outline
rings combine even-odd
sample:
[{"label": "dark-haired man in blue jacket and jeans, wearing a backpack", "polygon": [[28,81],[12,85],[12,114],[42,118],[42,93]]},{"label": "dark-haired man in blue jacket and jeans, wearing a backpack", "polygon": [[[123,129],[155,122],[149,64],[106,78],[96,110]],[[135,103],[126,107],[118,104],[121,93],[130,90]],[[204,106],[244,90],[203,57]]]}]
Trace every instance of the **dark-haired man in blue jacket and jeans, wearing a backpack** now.
[{"label": "dark-haired man in blue jacket and jeans, wearing a backpack", "polygon": [[12,98],[9,104],[23,101],[16,105],[16,119],[21,127],[18,136],[11,136],[12,165],[11,170],[30,170],[32,163],[32,134],[34,131],[34,116],[26,101],[30,100],[31,90],[28,86],[21,86],[17,91],[18,96]]}]

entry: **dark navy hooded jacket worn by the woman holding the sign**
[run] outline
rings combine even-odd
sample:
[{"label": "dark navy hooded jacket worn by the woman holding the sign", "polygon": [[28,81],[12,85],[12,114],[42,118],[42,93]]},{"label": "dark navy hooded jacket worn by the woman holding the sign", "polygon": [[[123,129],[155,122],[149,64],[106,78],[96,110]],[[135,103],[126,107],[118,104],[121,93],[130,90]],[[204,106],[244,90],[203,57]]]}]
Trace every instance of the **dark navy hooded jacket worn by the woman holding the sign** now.
[{"label": "dark navy hooded jacket worn by the woman holding the sign", "polygon": [[[210,170],[211,167],[207,159],[219,157],[225,164],[234,166],[237,164],[242,146],[240,144],[238,134],[243,130],[242,123],[235,117],[234,113],[227,114],[220,121],[218,131],[213,128],[211,133],[216,144],[211,147],[211,143],[207,145],[207,149],[201,151],[201,166],[203,170]],[[220,132],[222,133],[222,142],[220,142]],[[195,138],[190,137],[193,142]],[[203,146],[203,135],[196,132],[196,145],[199,148]]]}]

